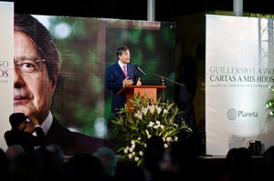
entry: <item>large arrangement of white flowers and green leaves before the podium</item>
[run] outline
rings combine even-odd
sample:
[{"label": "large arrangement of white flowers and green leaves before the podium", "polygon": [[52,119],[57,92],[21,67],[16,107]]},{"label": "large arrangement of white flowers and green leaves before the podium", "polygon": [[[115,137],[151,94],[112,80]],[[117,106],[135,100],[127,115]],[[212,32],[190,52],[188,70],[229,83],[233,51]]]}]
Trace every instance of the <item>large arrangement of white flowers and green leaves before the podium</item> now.
[{"label": "large arrangement of white flowers and green leaves before the podium", "polygon": [[118,154],[121,159],[132,160],[140,166],[146,142],[151,136],[162,136],[164,147],[171,142],[178,141],[178,134],[182,131],[192,132],[184,119],[178,124],[179,109],[174,103],[163,103],[161,98],[151,103],[148,96],[136,94],[132,99],[131,108],[121,108],[120,116],[112,120],[121,130],[121,146]]}]

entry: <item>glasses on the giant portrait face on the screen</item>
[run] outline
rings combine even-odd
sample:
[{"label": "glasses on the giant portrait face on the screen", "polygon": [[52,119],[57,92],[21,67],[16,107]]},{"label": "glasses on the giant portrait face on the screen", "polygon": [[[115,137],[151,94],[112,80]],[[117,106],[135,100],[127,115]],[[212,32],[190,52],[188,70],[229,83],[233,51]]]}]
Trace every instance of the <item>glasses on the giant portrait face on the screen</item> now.
[{"label": "glasses on the giant portrait face on the screen", "polygon": [[16,69],[24,73],[33,73],[41,70],[42,62],[46,62],[45,59],[23,59],[15,60]]}]

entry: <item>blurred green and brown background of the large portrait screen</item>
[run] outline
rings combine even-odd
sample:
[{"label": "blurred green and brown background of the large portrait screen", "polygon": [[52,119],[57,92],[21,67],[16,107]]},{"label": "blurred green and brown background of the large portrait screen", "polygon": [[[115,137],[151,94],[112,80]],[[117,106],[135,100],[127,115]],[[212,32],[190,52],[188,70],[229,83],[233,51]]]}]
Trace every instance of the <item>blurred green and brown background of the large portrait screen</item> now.
[{"label": "blurred green and brown background of the large portrait screen", "polygon": [[[127,45],[131,63],[174,80],[174,23],[105,18],[36,15],[54,37],[62,57],[51,110],[65,126],[90,136],[110,137],[111,91],[105,69],[117,61],[116,49]],[[142,75],[142,85],[161,79]],[[174,101],[174,84],[165,81],[164,99]]]}]

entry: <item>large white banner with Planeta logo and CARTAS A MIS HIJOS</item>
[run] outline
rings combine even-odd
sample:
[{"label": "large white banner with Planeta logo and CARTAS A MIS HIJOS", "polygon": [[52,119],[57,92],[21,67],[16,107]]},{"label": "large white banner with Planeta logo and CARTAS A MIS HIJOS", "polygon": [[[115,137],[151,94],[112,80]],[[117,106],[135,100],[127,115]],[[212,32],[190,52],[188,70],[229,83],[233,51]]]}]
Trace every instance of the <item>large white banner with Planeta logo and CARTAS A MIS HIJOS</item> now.
[{"label": "large white banner with Planeta logo and CARTAS A MIS HIJOS", "polygon": [[253,139],[263,152],[274,145],[265,106],[274,82],[273,19],[206,15],[205,44],[206,154],[226,156]]}]

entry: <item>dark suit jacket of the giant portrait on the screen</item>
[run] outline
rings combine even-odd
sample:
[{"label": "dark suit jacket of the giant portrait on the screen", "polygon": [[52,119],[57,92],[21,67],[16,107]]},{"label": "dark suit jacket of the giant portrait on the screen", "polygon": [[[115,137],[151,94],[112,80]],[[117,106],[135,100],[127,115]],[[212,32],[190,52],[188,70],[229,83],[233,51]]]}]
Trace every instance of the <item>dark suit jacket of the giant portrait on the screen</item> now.
[{"label": "dark suit jacket of the giant portrait on the screen", "polygon": [[93,154],[100,146],[111,147],[110,143],[102,138],[72,132],[62,126],[55,117],[46,135],[46,145],[58,144],[67,156],[77,153]]}]

